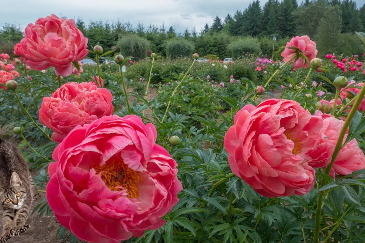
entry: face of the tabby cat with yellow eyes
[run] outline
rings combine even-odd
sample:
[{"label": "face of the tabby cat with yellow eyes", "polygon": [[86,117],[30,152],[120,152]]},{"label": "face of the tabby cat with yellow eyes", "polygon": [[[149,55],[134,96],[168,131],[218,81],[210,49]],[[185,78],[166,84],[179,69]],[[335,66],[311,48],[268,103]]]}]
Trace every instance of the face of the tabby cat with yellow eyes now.
[{"label": "face of the tabby cat with yellow eyes", "polygon": [[0,188],[0,203],[3,208],[18,210],[23,207],[27,198],[26,189],[19,176],[13,172],[10,184]]}]

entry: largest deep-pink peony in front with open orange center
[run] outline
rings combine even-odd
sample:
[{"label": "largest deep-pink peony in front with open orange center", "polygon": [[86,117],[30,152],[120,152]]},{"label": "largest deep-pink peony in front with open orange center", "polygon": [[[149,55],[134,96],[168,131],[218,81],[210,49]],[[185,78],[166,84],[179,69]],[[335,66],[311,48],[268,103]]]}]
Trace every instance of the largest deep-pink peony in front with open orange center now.
[{"label": "largest deep-pink peony in front with open orange center", "polygon": [[161,227],[182,185],[156,137],[135,115],[72,130],[48,169],[46,196],[58,221],[87,242],[120,243]]}]

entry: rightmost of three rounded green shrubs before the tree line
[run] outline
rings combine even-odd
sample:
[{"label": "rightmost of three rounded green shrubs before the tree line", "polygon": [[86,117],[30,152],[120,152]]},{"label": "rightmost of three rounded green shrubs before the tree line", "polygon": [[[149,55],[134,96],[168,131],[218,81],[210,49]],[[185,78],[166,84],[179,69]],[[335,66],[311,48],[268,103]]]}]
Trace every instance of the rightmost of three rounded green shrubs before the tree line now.
[{"label": "rightmost of three rounded green shrubs before the tree line", "polygon": [[260,43],[253,37],[239,39],[229,44],[227,48],[231,51],[234,60],[243,54],[258,54],[261,51]]}]

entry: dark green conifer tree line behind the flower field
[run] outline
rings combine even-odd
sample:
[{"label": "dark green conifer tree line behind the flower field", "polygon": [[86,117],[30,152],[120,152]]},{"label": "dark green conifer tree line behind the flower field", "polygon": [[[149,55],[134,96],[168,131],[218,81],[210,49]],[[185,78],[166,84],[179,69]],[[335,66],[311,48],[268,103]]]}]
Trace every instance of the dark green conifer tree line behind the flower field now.
[{"label": "dark green conifer tree line behind the flower field", "polygon": [[[132,51],[146,48],[146,55],[155,52],[166,56],[168,43],[180,38],[189,42],[193,48],[191,51],[200,56],[231,57],[234,46],[241,43],[246,46],[239,50],[271,57],[274,35],[277,52],[295,35],[310,36],[316,41],[320,55],[365,52],[354,35],[354,31],[365,31],[365,4],[358,8],[353,0],[305,0],[301,3],[297,0],[268,0],[264,5],[256,0],[244,10],[228,13],[224,18],[216,16],[211,26],[205,24],[199,31],[186,28],[177,32],[174,27],[164,24],[144,26],[138,23],[133,26],[129,21],[120,20],[86,24],[80,17],[76,19],[76,26],[89,38],[89,46],[99,44],[104,50],[121,51],[124,43],[132,45]],[[0,51],[14,46],[22,32],[14,24],[6,24],[0,30]],[[128,42],[121,41],[126,36]]]}]

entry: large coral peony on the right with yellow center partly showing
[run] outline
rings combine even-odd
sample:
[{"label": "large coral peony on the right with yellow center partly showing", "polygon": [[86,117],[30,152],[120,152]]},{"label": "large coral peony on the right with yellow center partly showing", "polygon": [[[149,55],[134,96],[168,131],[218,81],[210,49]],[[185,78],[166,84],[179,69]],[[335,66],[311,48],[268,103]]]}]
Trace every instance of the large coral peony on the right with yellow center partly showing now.
[{"label": "large coral peony on the right with yellow center partly showing", "polygon": [[244,106],[224,137],[232,172],[263,196],[303,195],[313,188],[315,171],[307,153],[316,149],[323,119],[299,103],[268,99]]}]

